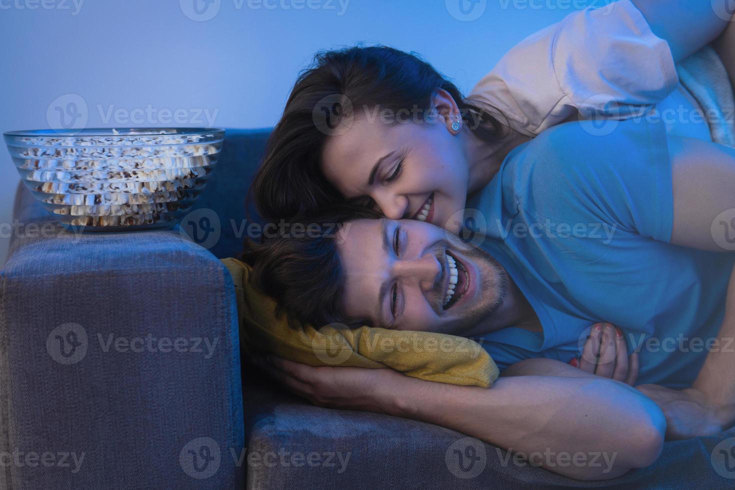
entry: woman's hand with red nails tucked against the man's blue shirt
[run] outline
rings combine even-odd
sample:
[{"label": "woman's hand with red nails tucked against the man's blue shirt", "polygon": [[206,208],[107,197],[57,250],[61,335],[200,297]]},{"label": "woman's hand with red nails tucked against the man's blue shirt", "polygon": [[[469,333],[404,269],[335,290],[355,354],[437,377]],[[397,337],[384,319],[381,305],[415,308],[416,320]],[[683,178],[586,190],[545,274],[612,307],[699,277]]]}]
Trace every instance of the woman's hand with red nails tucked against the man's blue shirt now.
[{"label": "woman's hand with red nails tucked against the man's blue shirt", "polygon": [[569,364],[631,386],[638,378],[638,353],[628,356],[623,331],[609,323],[592,325],[581,359],[572,359]]}]

